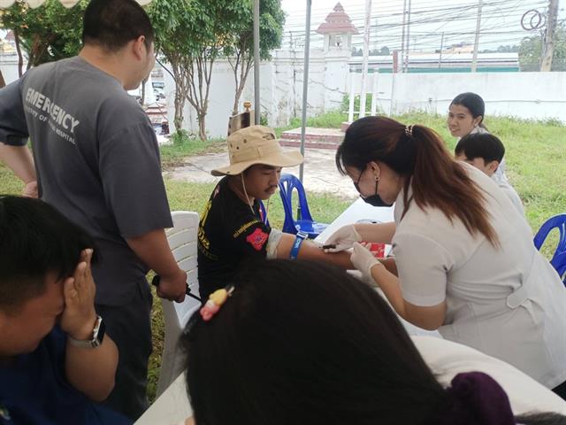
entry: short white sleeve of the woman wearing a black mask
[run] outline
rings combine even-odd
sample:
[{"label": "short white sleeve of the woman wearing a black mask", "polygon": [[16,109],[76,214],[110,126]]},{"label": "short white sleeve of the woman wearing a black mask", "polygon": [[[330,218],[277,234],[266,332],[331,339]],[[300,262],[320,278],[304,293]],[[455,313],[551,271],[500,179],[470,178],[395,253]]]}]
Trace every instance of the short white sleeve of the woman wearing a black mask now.
[{"label": "short white sleeve of the woman wearing a black mask", "polygon": [[393,237],[392,251],[406,301],[431,307],[446,299],[447,272],[454,260],[444,247],[429,237],[403,232]]}]

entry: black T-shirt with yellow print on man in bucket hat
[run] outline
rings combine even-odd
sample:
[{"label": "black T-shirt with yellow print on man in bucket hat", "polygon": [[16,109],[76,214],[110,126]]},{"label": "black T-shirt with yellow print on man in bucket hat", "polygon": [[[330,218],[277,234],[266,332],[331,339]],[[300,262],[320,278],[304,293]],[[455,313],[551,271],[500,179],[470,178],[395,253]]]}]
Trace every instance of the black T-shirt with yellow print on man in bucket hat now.
[{"label": "black T-shirt with yellow print on man in bucket hat", "polygon": [[272,229],[262,220],[257,200],[254,213],[224,177],[210,195],[198,228],[198,280],[203,302],[233,280],[242,263],[264,259]]}]

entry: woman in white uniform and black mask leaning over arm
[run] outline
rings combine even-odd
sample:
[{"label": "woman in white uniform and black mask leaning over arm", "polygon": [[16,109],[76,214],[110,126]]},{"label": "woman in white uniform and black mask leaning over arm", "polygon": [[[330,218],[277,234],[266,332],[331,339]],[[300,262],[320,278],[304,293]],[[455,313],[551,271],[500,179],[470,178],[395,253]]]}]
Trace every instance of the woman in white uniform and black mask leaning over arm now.
[{"label": "woman in white uniform and black mask leaning over arm", "polygon": [[[326,243],[420,328],[508,361],[566,398],[566,289],[495,182],[440,136],[384,117],[356,120],[336,164],[394,223],[340,228]],[[358,242],[393,244],[397,274]]]}]

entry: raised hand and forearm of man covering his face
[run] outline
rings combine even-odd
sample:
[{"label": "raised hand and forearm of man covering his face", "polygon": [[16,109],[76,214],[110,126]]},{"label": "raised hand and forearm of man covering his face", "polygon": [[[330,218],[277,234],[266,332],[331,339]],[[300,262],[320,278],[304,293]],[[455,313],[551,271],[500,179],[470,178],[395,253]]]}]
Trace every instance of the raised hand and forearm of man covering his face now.
[{"label": "raised hand and forearm of man covering his face", "polygon": [[[74,339],[92,338],[96,322],[96,286],[90,273],[92,250],[83,251],[81,262],[73,277],[65,279],[63,293],[65,310],[61,316],[61,329]],[[94,401],[103,401],[114,388],[118,367],[118,348],[110,336],[96,348],[80,348],[67,339],[65,349],[65,375],[73,387]]]}]

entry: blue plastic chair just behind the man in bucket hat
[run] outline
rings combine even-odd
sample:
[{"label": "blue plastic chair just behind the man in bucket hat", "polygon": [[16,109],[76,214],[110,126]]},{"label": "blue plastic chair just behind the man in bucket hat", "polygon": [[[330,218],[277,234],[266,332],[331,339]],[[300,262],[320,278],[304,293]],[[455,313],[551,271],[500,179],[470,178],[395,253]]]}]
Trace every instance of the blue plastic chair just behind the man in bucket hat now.
[{"label": "blue plastic chair just behind the man in bucket hat", "polygon": [[[293,216],[293,190],[296,189],[299,196],[299,208],[301,209],[301,217],[294,219]],[[285,221],[283,222],[283,231],[296,235],[297,231],[301,230],[314,239],[320,235],[325,228],[328,227],[325,223],[318,223],[312,220],[309,211],[309,204],[307,203],[307,195],[302,187],[302,182],[297,179],[293,174],[282,174],[279,180],[279,195],[283,202],[283,209],[285,210]]]}]

